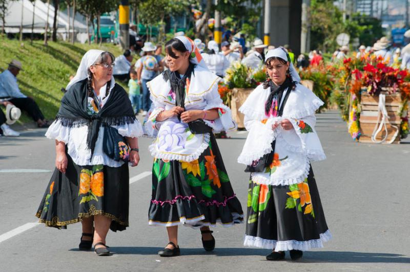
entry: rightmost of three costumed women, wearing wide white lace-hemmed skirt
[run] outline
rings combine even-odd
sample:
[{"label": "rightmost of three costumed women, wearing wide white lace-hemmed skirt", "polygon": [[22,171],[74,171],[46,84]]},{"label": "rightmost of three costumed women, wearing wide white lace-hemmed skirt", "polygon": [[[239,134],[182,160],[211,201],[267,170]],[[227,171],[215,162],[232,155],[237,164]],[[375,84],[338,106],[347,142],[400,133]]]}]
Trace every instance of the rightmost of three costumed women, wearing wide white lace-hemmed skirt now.
[{"label": "rightmost of three costumed women, wearing wide white lace-hemmed skirt", "polygon": [[250,172],[244,245],[292,260],[331,238],[311,162],[325,159],[315,131],[323,102],[302,86],[282,48],[267,53],[267,80],[240,107],[249,131],[238,162]]}]

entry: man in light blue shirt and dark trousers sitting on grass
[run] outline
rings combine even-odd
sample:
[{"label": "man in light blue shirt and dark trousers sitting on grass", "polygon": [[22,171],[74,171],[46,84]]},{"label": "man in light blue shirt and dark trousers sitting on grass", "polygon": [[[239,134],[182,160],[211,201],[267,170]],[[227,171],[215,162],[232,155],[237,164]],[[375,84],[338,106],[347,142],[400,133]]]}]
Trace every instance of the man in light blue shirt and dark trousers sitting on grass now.
[{"label": "man in light blue shirt and dark trousers sitting on grass", "polygon": [[20,70],[22,70],[22,63],[13,59],[8,69],[0,74],[0,99],[27,111],[38,127],[49,127],[50,124],[44,118],[37,103],[31,97],[25,96],[18,88],[16,76]]}]

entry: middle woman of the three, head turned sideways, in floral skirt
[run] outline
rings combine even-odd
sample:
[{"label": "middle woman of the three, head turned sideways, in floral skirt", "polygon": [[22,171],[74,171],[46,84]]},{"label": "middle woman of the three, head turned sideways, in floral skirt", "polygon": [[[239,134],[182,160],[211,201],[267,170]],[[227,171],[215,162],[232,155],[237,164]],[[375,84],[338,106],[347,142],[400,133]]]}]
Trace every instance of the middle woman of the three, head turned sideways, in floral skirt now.
[{"label": "middle woman of the three, head turned sideways, in floral skirt", "polygon": [[167,227],[162,257],[180,254],[178,225],[200,228],[206,251],[215,247],[209,226],[240,223],[243,212],[212,131],[236,128],[194,42],[175,37],[165,45],[169,70],[148,82],[152,107],[146,133],[156,137],[149,224]]}]

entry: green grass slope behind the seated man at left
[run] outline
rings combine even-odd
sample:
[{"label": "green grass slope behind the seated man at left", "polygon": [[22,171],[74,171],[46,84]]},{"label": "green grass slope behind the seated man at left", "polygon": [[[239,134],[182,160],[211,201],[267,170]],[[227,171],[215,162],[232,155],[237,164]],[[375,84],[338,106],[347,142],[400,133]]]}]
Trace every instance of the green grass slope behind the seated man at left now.
[{"label": "green grass slope behind the seated man at left", "polygon": [[[54,119],[63,97],[61,88],[66,87],[71,75],[75,75],[83,55],[89,49],[110,51],[119,56],[122,50],[119,46],[110,43],[80,44],[64,41],[49,42],[25,40],[20,45],[18,40],[10,40],[0,36],[0,72],[7,69],[7,63],[12,59],[22,62],[23,70],[17,76],[17,84],[23,94],[34,98],[46,119]],[[128,86],[121,84],[126,90]],[[2,107],[3,111],[5,107]],[[23,114],[18,121],[20,124],[32,122],[32,119]]]}]

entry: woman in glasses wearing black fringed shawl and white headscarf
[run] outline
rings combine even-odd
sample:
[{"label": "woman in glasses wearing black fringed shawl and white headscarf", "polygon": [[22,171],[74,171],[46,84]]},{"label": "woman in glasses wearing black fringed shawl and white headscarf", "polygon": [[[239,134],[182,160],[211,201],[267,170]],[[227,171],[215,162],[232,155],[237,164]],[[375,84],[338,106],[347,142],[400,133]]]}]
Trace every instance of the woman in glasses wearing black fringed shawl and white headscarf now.
[{"label": "woman in glasses wearing black fringed shawl and white headscarf", "polygon": [[125,90],[112,76],[114,56],[90,50],[67,85],[46,137],[55,139],[55,170],[36,216],[58,229],[81,221],[79,250],[110,255],[109,229],[128,226],[128,164],[139,162],[142,127]]}]

